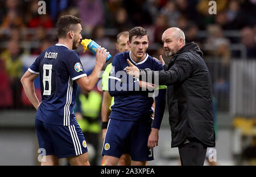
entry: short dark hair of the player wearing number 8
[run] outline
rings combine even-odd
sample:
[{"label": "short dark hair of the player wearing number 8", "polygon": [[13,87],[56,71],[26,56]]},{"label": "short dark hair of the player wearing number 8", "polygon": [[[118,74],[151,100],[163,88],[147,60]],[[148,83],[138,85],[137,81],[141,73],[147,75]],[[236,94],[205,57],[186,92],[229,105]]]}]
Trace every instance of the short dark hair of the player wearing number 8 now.
[{"label": "short dark hair of the player wearing number 8", "polygon": [[74,24],[81,23],[81,19],[77,18],[73,15],[64,15],[59,18],[57,22],[57,33],[58,37],[65,37],[67,35],[67,32],[69,31],[76,31],[76,26]]}]

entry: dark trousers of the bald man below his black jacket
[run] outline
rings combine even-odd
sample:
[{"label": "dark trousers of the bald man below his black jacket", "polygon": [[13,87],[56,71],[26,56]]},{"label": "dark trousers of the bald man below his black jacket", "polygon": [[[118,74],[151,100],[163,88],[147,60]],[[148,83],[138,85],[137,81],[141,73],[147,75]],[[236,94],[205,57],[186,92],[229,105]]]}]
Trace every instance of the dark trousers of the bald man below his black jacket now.
[{"label": "dark trousers of the bald man below his black jacket", "polygon": [[207,146],[198,140],[189,140],[186,144],[179,146],[181,165],[198,165],[203,166]]}]

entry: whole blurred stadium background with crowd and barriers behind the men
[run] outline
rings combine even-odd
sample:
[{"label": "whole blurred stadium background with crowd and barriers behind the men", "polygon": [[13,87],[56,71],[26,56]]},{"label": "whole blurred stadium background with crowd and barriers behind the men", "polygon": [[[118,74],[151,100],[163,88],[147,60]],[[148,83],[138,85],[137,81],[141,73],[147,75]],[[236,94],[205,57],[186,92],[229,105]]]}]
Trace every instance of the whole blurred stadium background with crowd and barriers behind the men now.
[{"label": "whole blurred stadium background with crowd and barriers behind the men", "polygon": [[[199,44],[210,70],[218,165],[256,164],[255,0],[215,1],[217,14],[213,15],[205,0],[45,2],[46,14],[39,15],[38,1],[0,0],[0,165],[39,164],[36,111],[19,80],[38,54],[56,44],[55,24],[66,14],[81,18],[82,37],[96,41],[112,56],[117,53],[114,44],[118,32],[134,26],[146,28],[150,41],[147,53],[159,58],[164,54],[163,31],[168,27],[183,29],[187,43]],[[77,52],[90,74],[94,56],[89,51],[83,53],[81,45]],[[35,87],[40,97],[39,79]],[[178,165],[178,151],[170,148],[170,137],[166,109],[156,158],[149,165]],[[101,141],[101,137],[98,139]]]}]

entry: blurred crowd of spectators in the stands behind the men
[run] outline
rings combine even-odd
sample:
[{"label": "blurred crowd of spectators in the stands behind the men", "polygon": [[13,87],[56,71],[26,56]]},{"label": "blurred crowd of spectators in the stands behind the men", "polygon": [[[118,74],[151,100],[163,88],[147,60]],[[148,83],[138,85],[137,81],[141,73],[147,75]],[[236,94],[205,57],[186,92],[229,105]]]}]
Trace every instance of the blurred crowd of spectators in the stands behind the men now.
[{"label": "blurred crowd of spectators in the stands behind the men", "polygon": [[[82,20],[82,36],[115,54],[116,35],[142,26],[149,33],[148,53],[163,54],[162,33],[181,28],[186,43],[195,41],[205,58],[221,61],[214,89],[225,86],[226,68],[233,58],[256,58],[256,1],[216,0],[217,14],[209,14],[206,0],[51,0],[46,14],[38,1],[0,0],[0,108],[22,108],[19,79],[24,73],[21,57],[40,54],[57,42],[56,22],[62,15]],[[77,49],[84,54],[82,48]],[[89,54],[89,52],[87,53]],[[165,58],[166,59],[166,58]],[[9,101],[6,101],[9,100]]]}]

